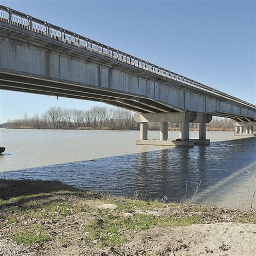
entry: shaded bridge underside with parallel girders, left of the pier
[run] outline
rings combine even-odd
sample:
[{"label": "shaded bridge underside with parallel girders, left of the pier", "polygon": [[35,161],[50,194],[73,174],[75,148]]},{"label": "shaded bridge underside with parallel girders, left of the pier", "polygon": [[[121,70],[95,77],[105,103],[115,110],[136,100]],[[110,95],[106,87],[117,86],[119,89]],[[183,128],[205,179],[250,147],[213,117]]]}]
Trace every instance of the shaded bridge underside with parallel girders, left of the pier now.
[{"label": "shaded bridge underside with parallel girders, left of the pier", "polygon": [[0,72],[0,89],[103,102],[140,113],[177,112],[152,99]]}]

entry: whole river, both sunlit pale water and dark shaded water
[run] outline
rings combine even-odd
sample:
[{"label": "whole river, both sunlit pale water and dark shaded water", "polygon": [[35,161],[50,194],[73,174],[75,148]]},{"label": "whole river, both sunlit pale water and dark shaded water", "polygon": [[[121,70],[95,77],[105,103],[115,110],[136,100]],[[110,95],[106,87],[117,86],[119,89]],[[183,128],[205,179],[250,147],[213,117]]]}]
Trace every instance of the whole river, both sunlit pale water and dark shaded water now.
[{"label": "whole river, both sunlit pale water and dark shaded water", "polygon": [[[255,137],[207,132],[211,145],[193,148],[138,146],[138,137],[139,131],[0,129],[6,147],[0,178],[60,180],[117,196],[228,208],[249,204],[256,185]],[[149,131],[149,138],[158,137]],[[169,131],[169,138],[178,132]]]}]

